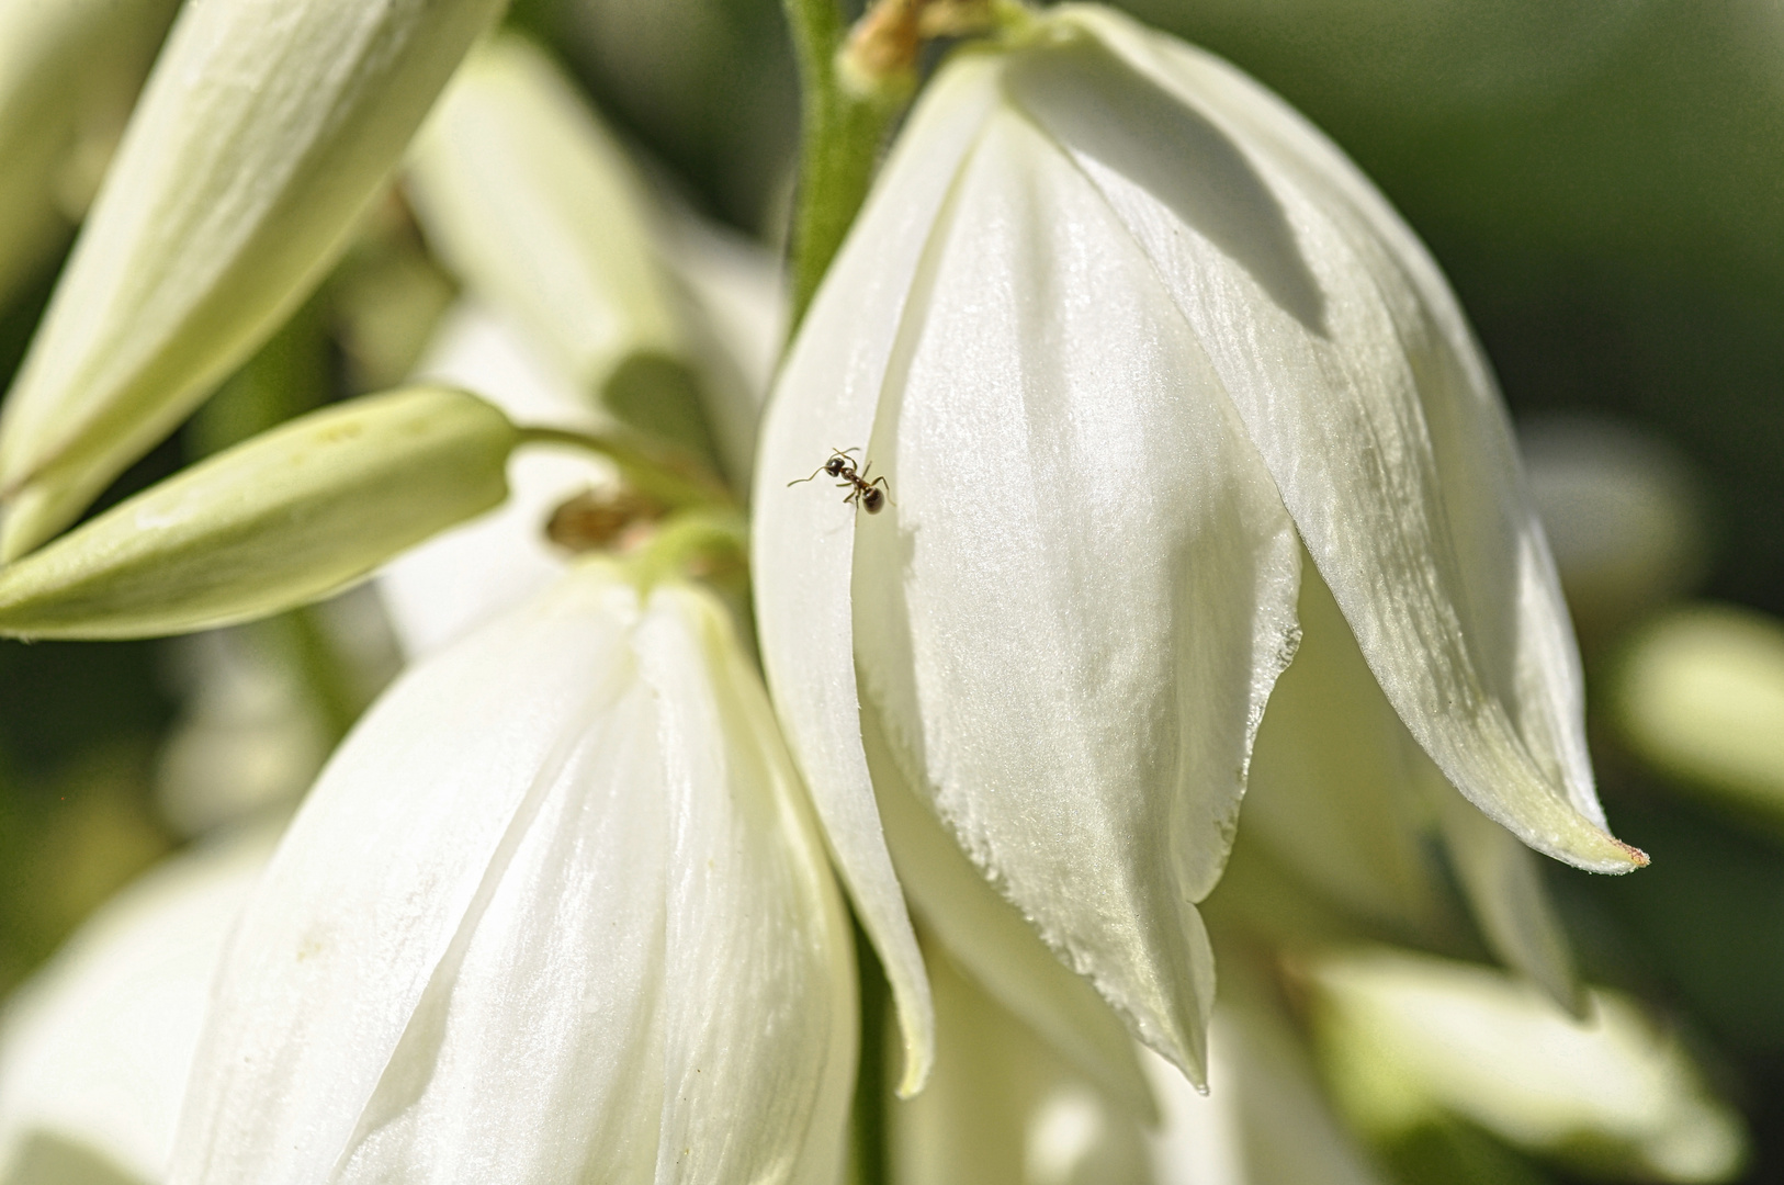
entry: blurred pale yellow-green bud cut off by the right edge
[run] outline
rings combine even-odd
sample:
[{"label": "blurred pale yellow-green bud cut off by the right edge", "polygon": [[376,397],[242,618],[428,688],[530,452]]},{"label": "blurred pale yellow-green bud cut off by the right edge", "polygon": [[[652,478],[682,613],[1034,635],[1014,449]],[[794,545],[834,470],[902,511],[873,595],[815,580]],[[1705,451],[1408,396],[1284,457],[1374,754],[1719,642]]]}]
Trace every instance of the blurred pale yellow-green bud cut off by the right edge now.
[{"label": "blurred pale yellow-green bud cut off by the right edge", "polygon": [[1609,709],[1657,769],[1784,830],[1784,623],[1732,605],[1650,621],[1613,671]]}]

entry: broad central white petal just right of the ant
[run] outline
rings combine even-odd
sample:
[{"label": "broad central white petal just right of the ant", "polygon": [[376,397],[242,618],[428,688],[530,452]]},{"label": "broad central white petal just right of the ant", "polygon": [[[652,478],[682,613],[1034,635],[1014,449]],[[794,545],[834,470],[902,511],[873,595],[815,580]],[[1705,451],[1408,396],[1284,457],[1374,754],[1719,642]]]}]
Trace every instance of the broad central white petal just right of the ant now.
[{"label": "broad central white petal just right of the ant", "polygon": [[[1145,259],[1026,121],[958,182],[867,455],[862,685],[935,808],[1201,1076],[1220,876],[1299,544]],[[815,493],[815,491],[814,491]]]}]

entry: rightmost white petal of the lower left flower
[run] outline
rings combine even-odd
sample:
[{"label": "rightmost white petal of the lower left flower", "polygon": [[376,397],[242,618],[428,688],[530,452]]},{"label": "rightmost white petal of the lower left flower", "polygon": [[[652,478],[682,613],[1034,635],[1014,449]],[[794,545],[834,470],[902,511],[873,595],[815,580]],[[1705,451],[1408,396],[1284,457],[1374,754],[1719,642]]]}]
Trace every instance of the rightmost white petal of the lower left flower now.
[{"label": "rightmost white petal of the lower left flower", "polygon": [[831,1185],[855,1087],[849,924],[721,612],[658,589],[637,642],[671,803],[657,1181]]}]

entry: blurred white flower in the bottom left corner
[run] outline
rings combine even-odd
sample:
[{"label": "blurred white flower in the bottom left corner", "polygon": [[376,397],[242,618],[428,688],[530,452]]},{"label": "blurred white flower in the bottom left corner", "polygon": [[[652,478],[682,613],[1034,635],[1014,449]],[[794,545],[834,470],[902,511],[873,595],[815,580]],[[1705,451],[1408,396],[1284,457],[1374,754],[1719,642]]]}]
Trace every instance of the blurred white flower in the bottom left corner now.
[{"label": "blurred white flower in the bottom left corner", "polygon": [[152,869],[7,1001],[0,1181],[164,1180],[223,939],[278,826]]}]

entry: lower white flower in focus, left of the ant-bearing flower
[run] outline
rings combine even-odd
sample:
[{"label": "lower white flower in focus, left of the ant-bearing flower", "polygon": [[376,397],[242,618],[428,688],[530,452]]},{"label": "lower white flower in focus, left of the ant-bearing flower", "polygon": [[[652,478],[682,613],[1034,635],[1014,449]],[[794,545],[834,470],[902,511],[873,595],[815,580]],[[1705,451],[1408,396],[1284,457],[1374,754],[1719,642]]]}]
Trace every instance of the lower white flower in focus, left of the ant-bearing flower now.
[{"label": "lower white flower in focus, left of the ant-bearing flower", "polygon": [[398,680],[219,974],[171,1180],[830,1181],[853,951],[723,610],[607,564]]}]

